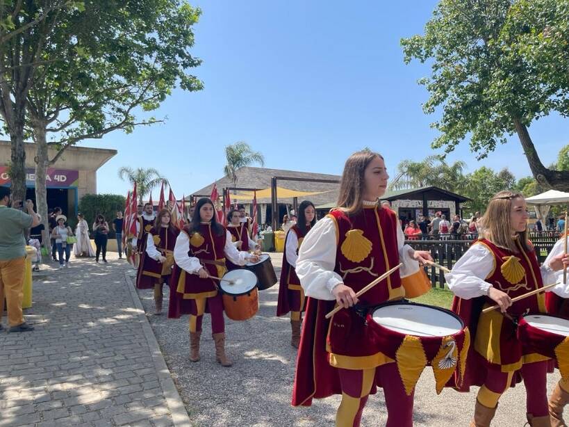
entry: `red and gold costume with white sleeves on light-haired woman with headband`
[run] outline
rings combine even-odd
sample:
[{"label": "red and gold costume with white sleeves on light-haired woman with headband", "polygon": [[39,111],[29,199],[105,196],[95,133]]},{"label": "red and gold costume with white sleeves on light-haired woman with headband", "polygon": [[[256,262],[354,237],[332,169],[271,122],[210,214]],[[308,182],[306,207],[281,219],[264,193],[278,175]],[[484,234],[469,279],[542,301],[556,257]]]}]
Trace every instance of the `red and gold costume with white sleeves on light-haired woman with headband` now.
[{"label": "red and gold costume with white sleeves on light-haired woman with headband", "polygon": [[540,268],[533,248],[525,251],[519,241],[516,245],[518,252],[511,252],[480,239],[459,259],[452,273],[445,275],[456,294],[452,310],[468,325],[473,343],[462,382],[450,385],[463,392],[468,392],[471,385],[481,386],[475,419],[484,413],[491,419],[500,396],[522,378],[527,390],[528,419],[548,414],[545,377],[549,359],[524,346],[516,335],[515,323],[522,314],[545,313],[544,294],[516,301],[506,315],[500,310],[481,313],[495,305],[486,296],[490,287],[511,298],[543,287],[542,275],[547,277],[547,272]]}]

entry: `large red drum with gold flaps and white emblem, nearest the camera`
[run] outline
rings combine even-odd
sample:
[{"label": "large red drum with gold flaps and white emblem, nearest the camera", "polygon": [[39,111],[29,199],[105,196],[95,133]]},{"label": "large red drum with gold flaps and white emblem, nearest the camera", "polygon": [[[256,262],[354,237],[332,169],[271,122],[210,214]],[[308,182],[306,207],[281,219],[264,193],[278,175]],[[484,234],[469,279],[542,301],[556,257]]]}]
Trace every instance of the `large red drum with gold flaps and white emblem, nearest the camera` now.
[{"label": "large red drum with gold flaps and white emblem, nearest the camera", "polygon": [[397,363],[408,395],[427,365],[433,367],[437,394],[457,368],[462,378],[470,333],[453,312],[397,301],[370,309],[367,323],[377,342],[377,351]]}]

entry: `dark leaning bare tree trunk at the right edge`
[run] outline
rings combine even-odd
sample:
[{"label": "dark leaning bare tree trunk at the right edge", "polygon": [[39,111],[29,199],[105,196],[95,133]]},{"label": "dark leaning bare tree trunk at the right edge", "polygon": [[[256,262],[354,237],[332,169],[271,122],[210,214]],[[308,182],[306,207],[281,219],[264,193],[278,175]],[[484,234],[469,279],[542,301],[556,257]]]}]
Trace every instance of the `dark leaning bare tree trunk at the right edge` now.
[{"label": "dark leaning bare tree trunk at the right edge", "polygon": [[559,191],[569,191],[569,172],[545,168],[543,163],[541,163],[525,124],[522,124],[516,118],[513,119],[513,124],[516,126],[516,132],[518,133],[518,138],[520,138],[531,173],[537,182],[547,189],[553,188]]}]

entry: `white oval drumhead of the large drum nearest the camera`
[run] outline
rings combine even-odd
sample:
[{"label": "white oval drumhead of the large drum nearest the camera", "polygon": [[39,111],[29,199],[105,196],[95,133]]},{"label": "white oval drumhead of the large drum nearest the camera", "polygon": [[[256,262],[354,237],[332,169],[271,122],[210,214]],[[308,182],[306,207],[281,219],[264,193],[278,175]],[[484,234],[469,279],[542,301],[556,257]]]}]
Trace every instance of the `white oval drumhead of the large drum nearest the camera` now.
[{"label": "white oval drumhead of the large drum nearest the camera", "polygon": [[463,328],[452,314],[422,305],[386,305],[375,309],[372,316],[384,328],[418,337],[445,337]]}]

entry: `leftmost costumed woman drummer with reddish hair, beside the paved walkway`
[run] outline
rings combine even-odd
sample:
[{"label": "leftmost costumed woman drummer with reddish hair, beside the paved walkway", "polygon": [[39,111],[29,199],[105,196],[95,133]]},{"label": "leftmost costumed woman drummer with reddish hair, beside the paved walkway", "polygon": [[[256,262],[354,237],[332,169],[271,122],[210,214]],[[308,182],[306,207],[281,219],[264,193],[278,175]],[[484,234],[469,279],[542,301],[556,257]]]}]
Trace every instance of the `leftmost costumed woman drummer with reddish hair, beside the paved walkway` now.
[{"label": "leftmost costumed woman drummer with reddish hair, beside the paved walkway", "polygon": [[162,314],[162,289],[172,273],[174,245],[180,234],[170,219],[168,209],[158,212],[154,227],[147,234],[145,252],[142,252],[138,266],[136,287],[154,289],[155,314]]}]

